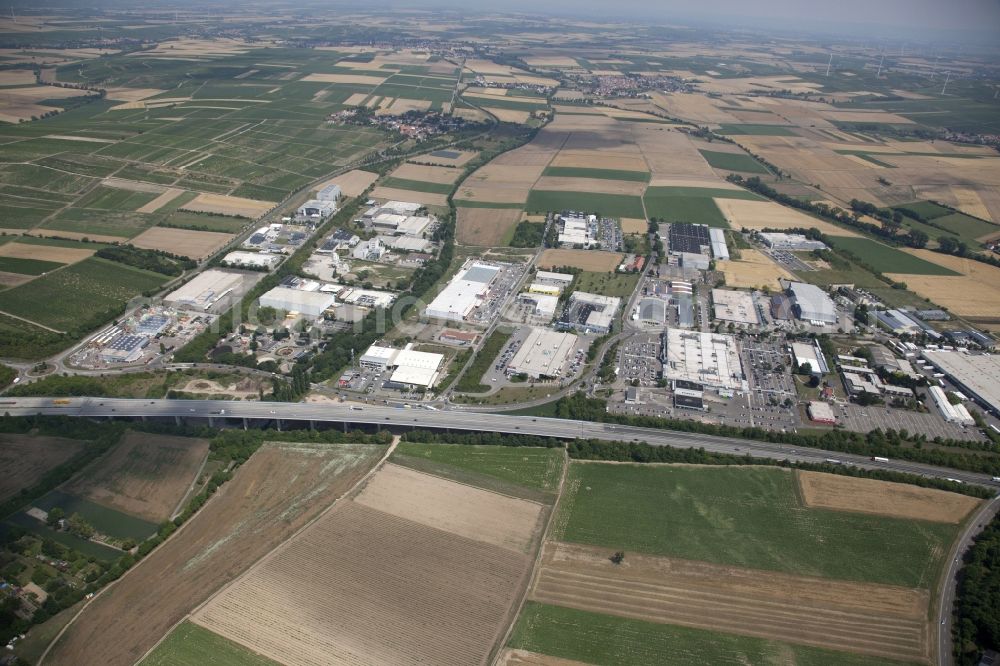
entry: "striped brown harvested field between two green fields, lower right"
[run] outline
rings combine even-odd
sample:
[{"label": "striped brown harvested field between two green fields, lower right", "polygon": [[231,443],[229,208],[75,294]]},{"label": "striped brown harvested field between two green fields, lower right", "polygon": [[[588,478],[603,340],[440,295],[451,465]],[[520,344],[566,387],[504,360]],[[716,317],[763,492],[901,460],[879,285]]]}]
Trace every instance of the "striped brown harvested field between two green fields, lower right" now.
[{"label": "striped brown harvested field between two green fields, lower right", "polygon": [[530,598],[609,615],[926,661],[928,594],[547,542]]}]

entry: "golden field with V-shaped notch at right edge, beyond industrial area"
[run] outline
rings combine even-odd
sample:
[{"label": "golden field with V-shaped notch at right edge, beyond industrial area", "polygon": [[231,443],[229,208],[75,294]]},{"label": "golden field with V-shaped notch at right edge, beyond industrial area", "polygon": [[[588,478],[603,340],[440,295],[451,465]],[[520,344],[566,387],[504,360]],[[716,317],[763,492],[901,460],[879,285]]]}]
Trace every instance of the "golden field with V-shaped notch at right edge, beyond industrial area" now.
[{"label": "golden field with V-shaped notch at right edge, beyond industrial area", "polygon": [[1000,313],[1000,268],[931,250],[905,251],[962,275],[888,273],[893,280],[905,282],[910,291],[960,316],[987,321],[997,318]]}]

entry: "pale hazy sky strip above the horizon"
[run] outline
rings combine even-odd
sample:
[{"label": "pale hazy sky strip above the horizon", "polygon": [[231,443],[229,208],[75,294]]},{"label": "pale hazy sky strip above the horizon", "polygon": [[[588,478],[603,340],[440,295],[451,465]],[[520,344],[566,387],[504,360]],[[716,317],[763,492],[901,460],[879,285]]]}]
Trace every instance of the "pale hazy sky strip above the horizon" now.
[{"label": "pale hazy sky strip above the horizon", "polygon": [[[406,6],[406,0],[393,4]],[[903,32],[994,32],[1000,43],[1000,0],[417,0],[414,4],[478,7],[486,11],[535,11],[624,17],[658,22],[702,19],[734,25],[805,29],[878,26],[887,36]]]}]

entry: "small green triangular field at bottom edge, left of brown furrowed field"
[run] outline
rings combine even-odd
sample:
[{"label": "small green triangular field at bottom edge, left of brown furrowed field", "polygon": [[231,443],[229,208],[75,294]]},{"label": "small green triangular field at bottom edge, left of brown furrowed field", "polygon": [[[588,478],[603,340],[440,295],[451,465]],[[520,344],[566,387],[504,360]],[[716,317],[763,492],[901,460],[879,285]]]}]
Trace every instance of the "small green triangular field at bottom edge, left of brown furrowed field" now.
[{"label": "small green triangular field at bottom edge, left of brown furrowed field", "polygon": [[276,661],[191,622],[184,622],[171,631],[139,663],[142,666],[280,666]]}]

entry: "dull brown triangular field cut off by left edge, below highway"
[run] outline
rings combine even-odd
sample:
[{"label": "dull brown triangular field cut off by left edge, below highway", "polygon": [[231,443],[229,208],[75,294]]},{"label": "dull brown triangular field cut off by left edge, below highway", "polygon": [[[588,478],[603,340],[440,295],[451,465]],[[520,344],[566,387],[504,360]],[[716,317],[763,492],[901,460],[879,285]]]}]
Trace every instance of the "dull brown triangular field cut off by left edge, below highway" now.
[{"label": "dull brown triangular field cut off by left edge, below highway", "polygon": [[83,450],[84,442],[62,437],[0,434],[0,501],[30,488],[49,470]]}]

